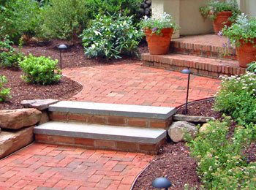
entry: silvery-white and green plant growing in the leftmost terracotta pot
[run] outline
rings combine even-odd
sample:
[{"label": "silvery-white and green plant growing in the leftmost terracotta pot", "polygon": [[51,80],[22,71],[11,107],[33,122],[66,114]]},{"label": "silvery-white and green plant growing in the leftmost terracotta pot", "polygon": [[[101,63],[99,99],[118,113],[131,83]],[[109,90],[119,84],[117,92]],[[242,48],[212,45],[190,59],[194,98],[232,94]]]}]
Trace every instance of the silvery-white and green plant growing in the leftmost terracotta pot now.
[{"label": "silvery-white and green plant growing in the leftmost terracotta pot", "polygon": [[152,31],[152,34],[157,34],[157,36],[162,35],[162,29],[164,28],[173,28],[173,31],[178,30],[179,26],[176,24],[176,21],[173,20],[173,17],[166,12],[161,18],[144,18],[140,21],[140,28],[148,28]]}]

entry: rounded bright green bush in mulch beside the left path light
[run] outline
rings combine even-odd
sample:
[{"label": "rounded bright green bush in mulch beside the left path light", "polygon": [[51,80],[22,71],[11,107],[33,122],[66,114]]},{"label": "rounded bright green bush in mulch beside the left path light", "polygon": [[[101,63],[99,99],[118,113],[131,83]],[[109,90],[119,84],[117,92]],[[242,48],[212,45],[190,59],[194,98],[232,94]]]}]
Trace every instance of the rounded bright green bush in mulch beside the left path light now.
[{"label": "rounded bright green bush in mulch beside the left path light", "polygon": [[[50,57],[44,56],[34,57],[31,54],[29,58],[25,56],[24,60],[20,62],[20,68],[23,69],[23,79],[26,83],[35,84],[54,84],[58,83],[61,75],[60,69],[57,68],[58,60],[55,61]],[[57,71],[57,72],[55,72]]]}]

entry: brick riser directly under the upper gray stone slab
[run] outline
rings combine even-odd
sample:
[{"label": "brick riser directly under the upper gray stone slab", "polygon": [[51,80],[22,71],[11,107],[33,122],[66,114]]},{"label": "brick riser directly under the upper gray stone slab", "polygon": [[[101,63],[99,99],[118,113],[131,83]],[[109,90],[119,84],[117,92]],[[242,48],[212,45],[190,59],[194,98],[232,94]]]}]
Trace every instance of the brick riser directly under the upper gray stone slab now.
[{"label": "brick riser directly under the upper gray stone slab", "polygon": [[151,129],[167,129],[172,117],[167,119],[129,118],[112,115],[90,115],[86,113],[50,112],[51,121],[92,123],[110,126],[132,126]]}]

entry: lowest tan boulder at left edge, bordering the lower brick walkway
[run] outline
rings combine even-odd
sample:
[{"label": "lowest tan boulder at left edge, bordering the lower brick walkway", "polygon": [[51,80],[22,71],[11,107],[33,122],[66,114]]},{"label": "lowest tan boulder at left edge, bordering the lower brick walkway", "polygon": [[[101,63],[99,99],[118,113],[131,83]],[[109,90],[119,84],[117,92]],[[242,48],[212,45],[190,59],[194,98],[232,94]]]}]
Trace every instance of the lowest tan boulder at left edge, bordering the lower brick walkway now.
[{"label": "lowest tan boulder at left edge, bordering the lower brick walkway", "polygon": [[15,132],[1,132],[0,159],[29,145],[34,140],[33,129],[34,126],[30,126]]}]

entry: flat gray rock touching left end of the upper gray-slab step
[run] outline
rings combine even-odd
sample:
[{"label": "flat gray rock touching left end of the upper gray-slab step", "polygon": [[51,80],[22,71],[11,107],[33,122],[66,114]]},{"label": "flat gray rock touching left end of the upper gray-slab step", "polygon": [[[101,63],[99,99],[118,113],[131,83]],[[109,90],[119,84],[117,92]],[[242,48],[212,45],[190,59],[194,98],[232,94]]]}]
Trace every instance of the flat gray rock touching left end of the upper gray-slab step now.
[{"label": "flat gray rock touching left end of the upper gray-slab step", "polygon": [[59,102],[57,99],[32,99],[32,100],[23,100],[20,104],[26,108],[36,108],[37,110],[48,109],[50,104],[55,104]]}]

